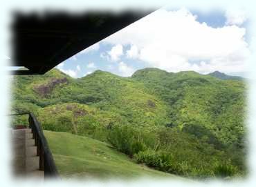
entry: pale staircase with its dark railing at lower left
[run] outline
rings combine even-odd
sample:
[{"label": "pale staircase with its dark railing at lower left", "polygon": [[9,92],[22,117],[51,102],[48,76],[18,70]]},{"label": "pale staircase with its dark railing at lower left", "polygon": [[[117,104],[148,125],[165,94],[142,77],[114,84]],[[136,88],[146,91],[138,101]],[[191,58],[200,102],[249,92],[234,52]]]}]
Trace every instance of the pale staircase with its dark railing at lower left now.
[{"label": "pale staircase with its dark railing at lower left", "polygon": [[38,179],[59,178],[53,155],[39,121],[32,113],[15,115],[29,115],[29,128],[15,126],[15,129],[11,130],[12,168],[15,176]]}]

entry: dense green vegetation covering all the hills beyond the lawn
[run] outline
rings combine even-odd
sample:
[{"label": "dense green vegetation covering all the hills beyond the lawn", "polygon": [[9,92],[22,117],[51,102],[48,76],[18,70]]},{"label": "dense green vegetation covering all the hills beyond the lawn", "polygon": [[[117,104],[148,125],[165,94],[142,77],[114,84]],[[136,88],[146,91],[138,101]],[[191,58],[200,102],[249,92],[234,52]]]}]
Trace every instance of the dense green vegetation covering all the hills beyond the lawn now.
[{"label": "dense green vegetation covering all the hills beyond the lawn", "polygon": [[[15,112],[45,130],[105,141],[138,163],[186,177],[246,173],[246,84],[196,72],[97,70],[72,79],[51,70],[13,80]],[[19,124],[22,123],[19,119]]]}]

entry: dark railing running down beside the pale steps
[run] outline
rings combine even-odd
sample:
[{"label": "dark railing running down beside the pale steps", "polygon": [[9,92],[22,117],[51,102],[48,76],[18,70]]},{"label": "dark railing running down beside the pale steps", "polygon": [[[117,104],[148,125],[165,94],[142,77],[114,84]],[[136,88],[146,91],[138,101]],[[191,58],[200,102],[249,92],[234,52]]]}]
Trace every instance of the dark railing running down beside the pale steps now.
[{"label": "dark railing running down beside the pale steps", "polygon": [[53,155],[49,149],[44,132],[42,130],[39,121],[33,113],[20,113],[14,115],[29,115],[28,122],[29,128],[33,133],[33,139],[35,139],[35,146],[37,146],[37,156],[39,156],[39,170],[44,170],[44,177],[59,177]]}]

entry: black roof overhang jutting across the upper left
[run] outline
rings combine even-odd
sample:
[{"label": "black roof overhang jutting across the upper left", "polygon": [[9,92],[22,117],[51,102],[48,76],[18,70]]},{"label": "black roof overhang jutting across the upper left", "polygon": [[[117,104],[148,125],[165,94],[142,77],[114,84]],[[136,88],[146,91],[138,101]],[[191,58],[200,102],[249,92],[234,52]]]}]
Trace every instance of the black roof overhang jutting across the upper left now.
[{"label": "black roof overhang jutting across the upper left", "polygon": [[[152,11],[15,14],[12,75],[42,75],[77,52],[109,37]],[[139,32],[139,31],[138,31]]]}]

